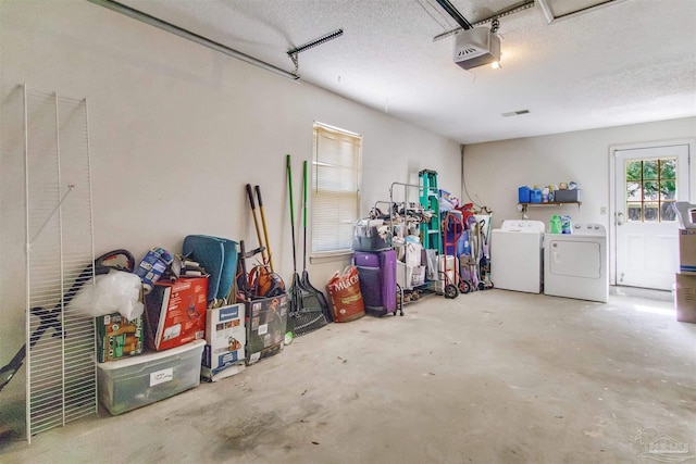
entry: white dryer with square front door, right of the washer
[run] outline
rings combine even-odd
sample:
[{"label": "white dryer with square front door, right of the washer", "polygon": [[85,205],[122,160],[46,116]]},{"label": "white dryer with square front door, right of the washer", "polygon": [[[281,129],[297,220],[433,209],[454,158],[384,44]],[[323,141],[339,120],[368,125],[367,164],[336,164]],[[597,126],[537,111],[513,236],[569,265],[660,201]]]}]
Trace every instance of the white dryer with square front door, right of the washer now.
[{"label": "white dryer with square front door, right of the washer", "polygon": [[607,229],[574,224],[572,234],[546,234],[544,293],[607,302],[609,261]]}]

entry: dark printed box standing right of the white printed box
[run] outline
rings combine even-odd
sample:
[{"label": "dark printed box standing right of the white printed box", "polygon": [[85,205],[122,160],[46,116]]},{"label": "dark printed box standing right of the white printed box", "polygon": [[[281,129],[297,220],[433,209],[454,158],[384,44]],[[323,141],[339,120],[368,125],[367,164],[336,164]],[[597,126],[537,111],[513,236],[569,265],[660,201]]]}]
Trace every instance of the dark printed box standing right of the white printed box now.
[{"label": "dark printed box standing right of the white printed box", "polygon": [[287,325],[287,294],[245,303],[247,346],[246,364],[283,350]]}]

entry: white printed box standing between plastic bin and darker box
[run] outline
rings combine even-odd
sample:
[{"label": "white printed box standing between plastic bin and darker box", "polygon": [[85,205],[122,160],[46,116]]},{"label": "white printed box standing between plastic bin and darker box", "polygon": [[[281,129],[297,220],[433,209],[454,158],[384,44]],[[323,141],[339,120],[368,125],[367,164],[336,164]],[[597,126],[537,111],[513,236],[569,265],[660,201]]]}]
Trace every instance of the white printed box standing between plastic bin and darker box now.
[{"label": "white printed box standing between plastic bin and darker box", "polygon": [[215,381],[241,371],[232,367],[246,361],[244,348],[247,333],[244,310],[243,303],[208,310],[201,369],[201,377],[204,379]]}]

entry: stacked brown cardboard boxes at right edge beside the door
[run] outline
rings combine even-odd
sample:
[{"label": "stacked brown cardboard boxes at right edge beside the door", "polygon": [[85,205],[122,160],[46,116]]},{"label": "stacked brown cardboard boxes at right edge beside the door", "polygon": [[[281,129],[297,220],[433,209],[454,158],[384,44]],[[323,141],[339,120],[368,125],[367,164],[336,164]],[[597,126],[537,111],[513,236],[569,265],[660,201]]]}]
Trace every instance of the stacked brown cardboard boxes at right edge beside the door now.
[{"label": "stacked brown cardboard boxes at right edge beside the door", "polygon": [[696,324],[696,228],[679,230],[679,273],[674,303],[676,321]]}]

